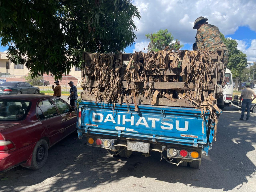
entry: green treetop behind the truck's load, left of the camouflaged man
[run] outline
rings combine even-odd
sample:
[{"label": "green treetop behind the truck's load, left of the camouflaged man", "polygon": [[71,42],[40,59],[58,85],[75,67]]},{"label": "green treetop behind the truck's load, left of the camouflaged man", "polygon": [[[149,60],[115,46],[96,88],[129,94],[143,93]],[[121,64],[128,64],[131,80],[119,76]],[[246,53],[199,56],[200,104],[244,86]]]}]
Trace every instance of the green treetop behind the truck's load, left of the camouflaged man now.
[{"label": "green treetop behind the truck's load, left of the camouflaged man", "polygon": [[180,44],[178,39],[174,41],[174,37],[171,33],[168,33],[167,29],[160,29],[157,33],[146,34],[147,39],[150,39],[148,44],[148,52],[150,51],[160,51],[164,50],[166,46],[169,46],[169,49],[174,49],[174,51],[183,47],[183,44]]}]

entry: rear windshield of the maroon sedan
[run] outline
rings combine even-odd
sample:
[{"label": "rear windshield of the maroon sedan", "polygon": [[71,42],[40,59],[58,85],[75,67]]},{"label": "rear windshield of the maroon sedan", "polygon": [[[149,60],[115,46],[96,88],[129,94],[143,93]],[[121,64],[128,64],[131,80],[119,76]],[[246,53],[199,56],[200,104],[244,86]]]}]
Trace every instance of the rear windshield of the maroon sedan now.
[{"label": "rear windshield of the maroon sedan", "polygon": [[0,99],[0,121],[20,121],[28,115],[30,101]]}]

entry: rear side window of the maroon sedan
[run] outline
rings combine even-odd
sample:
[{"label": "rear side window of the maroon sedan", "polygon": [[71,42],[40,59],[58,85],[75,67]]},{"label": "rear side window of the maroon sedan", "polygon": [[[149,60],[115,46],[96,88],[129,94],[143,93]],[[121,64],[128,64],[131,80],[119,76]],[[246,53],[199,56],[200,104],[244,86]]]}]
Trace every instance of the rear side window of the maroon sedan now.
[{"label": "rear side window of the maroon sedan", "polygon": [[57,112],[55,106],[53,105],[52,100],[50,100],[50,99],[40,101],[38,104],[38,107],[42,110],[42,113],[44,114],[45,119],[48,119],[48,118],[58,115],[58,112]]}]

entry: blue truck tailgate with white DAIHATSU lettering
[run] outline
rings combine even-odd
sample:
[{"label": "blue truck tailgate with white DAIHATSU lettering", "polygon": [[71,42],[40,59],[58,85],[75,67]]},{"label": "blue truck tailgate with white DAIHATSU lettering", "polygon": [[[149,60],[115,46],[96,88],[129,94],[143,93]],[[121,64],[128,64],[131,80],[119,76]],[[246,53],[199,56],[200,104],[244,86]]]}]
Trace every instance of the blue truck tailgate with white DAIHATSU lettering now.
[{"label": "blue truck tailgate with white DAIHATSU lettering", "polygon": [[[127,106],[82,100],[81,126],[86,134],[132,138],[162,143],[207,144],[209,111],[166,106]],[[129,111],[128,111],[129,108]],[[202,127],[203,125],[203,127]]]}]

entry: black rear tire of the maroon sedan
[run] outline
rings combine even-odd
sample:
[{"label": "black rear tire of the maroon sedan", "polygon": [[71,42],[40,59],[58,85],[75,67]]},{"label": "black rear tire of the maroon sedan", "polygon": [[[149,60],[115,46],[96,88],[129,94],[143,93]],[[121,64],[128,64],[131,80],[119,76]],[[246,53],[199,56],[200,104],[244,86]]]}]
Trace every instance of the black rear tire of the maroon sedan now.
[{"label": "black rear tire of the maroon sedan", "polygon": [[48,156],[48,143],[46,140],[41,139],[36,143],[36,146],[33,150],[33,155],[32,155],[32,161],[31,161],[31,166],[29,169],[40,169],[44,166],[46,163]]}]

